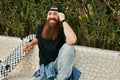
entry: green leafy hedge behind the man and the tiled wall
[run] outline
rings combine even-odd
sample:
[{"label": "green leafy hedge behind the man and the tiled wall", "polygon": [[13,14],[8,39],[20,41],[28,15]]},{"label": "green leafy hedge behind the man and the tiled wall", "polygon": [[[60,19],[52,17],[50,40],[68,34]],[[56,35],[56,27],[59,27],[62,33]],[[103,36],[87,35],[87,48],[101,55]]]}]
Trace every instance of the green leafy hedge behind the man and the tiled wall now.
[{"label": "green leafy hedge behind the man and the tiled wall", "polygon": [[46,19],[47,6],[59,3],[77,34],[77,45],[120,51],[119,0],[1,0],[0,35],[25,37]]}]

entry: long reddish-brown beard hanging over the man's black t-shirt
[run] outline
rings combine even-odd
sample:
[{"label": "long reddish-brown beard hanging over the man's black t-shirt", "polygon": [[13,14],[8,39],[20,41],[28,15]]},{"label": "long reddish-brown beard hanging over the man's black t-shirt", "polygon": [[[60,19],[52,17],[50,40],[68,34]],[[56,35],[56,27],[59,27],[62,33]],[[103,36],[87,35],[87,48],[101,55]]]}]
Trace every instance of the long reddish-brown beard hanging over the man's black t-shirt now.
[{"label": "long reddish-brown beard hanging over the man's black t-shirt", "polygon": [[55,40],[60,33],[61,25],[60,25],[60,21],[57,21],[54,18],[52,18],[52,20],[56,21],[56,23],[49,23],[50,20],[51,19],[48,19],[46,21],[46,24],[42,32],[42,38],[48,40]]}]

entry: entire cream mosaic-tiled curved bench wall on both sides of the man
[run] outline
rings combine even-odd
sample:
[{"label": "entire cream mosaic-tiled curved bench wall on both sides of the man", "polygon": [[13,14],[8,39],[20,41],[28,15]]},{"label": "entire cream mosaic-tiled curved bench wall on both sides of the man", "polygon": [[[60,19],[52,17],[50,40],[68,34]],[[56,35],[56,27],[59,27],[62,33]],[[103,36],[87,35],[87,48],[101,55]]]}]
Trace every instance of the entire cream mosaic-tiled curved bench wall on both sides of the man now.
[{"label": "entire cream mosaic-tiled curved bench wall on both sides of the man", "polygon": [[[0,36],[0,60],[4,60],[20,42],[20,38]],[[75,48],[75,66],[82,72],[80,80],[120,80],[119,51]],[[38,67],[38,48],[35,46],[4,80],[29,80]]]}]

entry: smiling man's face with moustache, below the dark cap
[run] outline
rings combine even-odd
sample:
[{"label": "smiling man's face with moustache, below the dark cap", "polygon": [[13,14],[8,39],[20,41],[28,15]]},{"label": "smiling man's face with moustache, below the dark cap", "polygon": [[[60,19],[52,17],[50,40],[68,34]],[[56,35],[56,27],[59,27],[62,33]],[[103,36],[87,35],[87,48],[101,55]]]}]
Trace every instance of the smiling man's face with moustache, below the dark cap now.
[{"label": "smiling man's face with moustache, below the dark cap", "polygon": [[57,11],[49,11],[47,13],[47,22],[50,24],[56,24],[59,22],[59,16]]}]

